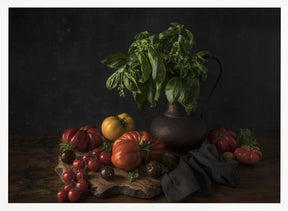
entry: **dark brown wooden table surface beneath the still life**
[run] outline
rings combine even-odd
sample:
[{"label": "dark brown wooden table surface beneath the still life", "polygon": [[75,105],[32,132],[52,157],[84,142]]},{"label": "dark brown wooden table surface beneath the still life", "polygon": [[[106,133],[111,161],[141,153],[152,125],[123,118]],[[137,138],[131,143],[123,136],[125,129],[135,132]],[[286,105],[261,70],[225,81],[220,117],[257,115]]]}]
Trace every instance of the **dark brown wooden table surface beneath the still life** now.
[{"label": "dark brown wooden table surface beneath the still life", "polygon": [[[263,160],[255,167],[239,165],[236,188],[213,184],[210,196],[189,196],[184,203],[280,202],[280,136],[256,135]],[[63,183],[54,171],[60,136],[9,136],[9,203],[58,203]],[[144,200],[128,196],[99,199],[85,196],[81,203],[167,203],[164,194]]]}]

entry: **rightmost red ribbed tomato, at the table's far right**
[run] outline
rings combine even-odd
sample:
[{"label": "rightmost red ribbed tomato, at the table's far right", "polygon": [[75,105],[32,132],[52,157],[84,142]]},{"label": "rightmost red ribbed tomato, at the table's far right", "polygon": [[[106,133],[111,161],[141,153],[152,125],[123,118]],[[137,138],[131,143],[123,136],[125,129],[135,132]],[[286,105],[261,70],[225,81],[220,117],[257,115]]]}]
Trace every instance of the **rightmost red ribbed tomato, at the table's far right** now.
[{"label": "rightmost red ribbed tomato, at the table's far right", "polygon": [[234,156],[240,163],[251,166],[262,160],[262,152],[258,147],[241,146],[235,149]]}]

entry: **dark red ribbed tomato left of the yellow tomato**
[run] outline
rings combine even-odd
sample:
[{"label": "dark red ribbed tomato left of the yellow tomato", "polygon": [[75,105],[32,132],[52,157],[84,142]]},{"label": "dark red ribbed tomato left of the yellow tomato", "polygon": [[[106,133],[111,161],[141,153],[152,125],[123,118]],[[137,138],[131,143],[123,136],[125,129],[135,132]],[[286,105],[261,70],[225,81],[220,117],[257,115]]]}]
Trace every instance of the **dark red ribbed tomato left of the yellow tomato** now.
[{"label": "dark red ribbed tomato left of the yellow tomato", "polygon": [[102,144],[100,131],[93,125],[69,128],[62,134],[62,143],[71,143],[80,152],[90,151]]}]

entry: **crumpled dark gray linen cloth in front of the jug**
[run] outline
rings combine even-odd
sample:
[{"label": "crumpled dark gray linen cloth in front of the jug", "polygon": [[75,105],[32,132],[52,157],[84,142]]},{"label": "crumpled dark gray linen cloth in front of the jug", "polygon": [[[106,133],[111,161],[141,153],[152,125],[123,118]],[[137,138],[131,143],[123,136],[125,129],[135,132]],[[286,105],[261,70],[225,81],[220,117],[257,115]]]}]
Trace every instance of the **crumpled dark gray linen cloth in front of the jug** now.
[{"label": "crumpled dark gray linen cloth in front of the jug", "polygon": [[231,187],[238,185],[238,162],[224,158],[208,140],[199,149],[181,156],[177,168],[161,178],[169,202],[181,201],[191,194],[209,195],[213,181]]}]

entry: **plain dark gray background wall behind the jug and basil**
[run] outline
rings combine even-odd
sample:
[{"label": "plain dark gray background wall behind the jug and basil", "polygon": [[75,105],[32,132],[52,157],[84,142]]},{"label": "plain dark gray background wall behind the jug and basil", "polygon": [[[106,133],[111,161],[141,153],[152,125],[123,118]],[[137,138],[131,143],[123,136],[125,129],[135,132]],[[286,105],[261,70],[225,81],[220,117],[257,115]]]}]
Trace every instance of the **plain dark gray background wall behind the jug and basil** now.
[{"label": "plain dark gray background wall behind the jug and basil", "polygon": [[[128,94],[105,87],[112,69],[100,61],[126,53],[136,33],[159,33],[170,22],[190,29],[196,51],[209,50],[224,74],[209,103],[208,128],[280,130],[280,9],[138,8],[9,9],[9,134],[61,134],[128,112],[138,130],[166,101],[146,114]],[[208,63],[199,111],[218,73]]]}]

